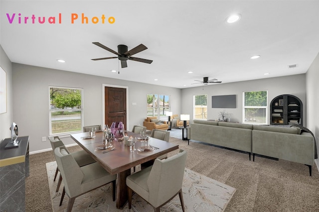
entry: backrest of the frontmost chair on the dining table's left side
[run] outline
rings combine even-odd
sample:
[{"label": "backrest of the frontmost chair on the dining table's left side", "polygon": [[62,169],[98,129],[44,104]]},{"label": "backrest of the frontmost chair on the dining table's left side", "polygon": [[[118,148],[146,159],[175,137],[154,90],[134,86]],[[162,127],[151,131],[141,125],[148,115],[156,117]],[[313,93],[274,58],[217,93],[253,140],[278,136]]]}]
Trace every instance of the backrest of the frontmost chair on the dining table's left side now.
[{"label": "backrest of the frontmost chair on the dining table's left side", "polygon": [[78,196],[82,193],[81,182],[84,177],[82,170],[65,146],[55,148],[54,154],[66,194],[70,198]]}]

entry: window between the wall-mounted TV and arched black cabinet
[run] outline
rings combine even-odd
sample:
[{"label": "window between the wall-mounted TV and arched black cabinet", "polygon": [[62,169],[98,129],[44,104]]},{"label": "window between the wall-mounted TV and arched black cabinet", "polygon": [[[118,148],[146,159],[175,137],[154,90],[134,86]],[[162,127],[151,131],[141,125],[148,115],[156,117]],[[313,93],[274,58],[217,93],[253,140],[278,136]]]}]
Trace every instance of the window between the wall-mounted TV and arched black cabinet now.
[{"label": "window between the wall-mounted TV and arched black cabinet", "polygon": [[243,92],[243,123],[267,124],[267,91]]}]

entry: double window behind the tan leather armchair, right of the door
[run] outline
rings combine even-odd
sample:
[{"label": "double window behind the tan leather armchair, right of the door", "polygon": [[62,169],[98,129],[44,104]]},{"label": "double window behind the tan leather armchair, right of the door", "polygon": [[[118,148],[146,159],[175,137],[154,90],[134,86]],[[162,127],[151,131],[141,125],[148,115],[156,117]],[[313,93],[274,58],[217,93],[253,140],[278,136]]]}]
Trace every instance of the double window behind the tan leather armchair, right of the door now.
[{"label": "double window behind the tan leather armchair, right of the door", "polygon": [[170,111],[170,96],[159,94],[148,94],[148,114],[147,116],[166,117],[166,111]]}]

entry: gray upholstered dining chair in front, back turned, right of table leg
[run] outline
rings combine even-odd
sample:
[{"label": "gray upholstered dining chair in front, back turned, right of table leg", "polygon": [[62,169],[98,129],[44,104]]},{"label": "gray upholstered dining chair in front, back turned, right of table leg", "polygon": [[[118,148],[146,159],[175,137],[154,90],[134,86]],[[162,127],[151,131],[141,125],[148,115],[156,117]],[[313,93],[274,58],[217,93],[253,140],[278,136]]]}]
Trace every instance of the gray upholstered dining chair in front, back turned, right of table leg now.
[{"label": "gray upholstered dining chair in front, back turned, right of table leg", "polygon": [[153,206],[155,212],[172,200],[177,194],[184,212],[182,183],[187,152],[179,153],[164,160],[156,159],[153,166],[136,172],[126,178],[129,209],[132,208],[132,192]]}]

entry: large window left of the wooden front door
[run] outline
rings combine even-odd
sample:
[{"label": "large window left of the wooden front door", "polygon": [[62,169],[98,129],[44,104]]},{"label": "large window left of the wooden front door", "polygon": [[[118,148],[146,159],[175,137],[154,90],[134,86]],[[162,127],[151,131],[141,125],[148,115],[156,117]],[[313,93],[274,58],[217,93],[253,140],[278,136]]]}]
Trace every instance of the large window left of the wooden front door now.
[{"label": "large window left of the wooden front door", "polygon": [[82,131],[83,89],[49,87],[50,135]]}]

